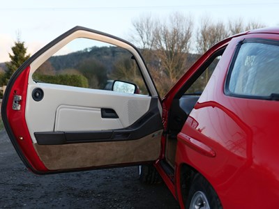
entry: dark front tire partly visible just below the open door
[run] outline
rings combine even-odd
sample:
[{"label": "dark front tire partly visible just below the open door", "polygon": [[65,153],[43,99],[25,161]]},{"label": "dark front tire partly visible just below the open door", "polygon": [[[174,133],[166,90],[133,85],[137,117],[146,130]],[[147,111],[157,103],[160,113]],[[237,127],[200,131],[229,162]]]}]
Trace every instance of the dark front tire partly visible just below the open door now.
[{"label": "dark front tire partly visible just below the open door", "polygon": [[153,167],[153,164],[140,165],[137,167],[137,170],[141,183],[145,183],[147,185],[162,183],[162,178],[156,168]]}]

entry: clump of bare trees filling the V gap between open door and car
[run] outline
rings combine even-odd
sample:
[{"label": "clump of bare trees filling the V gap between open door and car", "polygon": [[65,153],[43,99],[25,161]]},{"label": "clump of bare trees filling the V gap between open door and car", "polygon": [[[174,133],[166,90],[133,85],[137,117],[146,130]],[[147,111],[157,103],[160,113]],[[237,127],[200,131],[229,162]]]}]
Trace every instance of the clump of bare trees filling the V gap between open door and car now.
[{"label": "clump of bare trees filling the V gap between open door and car", "polygon": [[142,47],[142,53],[160,95],[188,69],[188,53],[193,33],[190,17],[173,13],[165,22],[150,15],[134,20],[134,40]]}]

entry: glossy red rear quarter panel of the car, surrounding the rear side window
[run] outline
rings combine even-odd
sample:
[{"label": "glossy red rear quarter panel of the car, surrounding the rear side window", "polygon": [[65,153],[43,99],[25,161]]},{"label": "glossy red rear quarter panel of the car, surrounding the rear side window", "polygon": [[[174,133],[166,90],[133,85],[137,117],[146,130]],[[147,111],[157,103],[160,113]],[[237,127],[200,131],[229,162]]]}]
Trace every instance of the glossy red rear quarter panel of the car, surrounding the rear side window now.
[{"label": "glossy red rear quarter panel of the car, surrounding the rear side window", "polygon": [[216,156],[198,152],[178,136],[176,163],[178,167],[188,164],[202,173],[216,190],[223,208],[266,208],[278,203],[278,140],[274,130],[279,104],[224,93],[227,70],[236,46],[244,38],[279,40],[278,35],[252,33],[229,42],[181,130],[181,134],[205,144]]}]

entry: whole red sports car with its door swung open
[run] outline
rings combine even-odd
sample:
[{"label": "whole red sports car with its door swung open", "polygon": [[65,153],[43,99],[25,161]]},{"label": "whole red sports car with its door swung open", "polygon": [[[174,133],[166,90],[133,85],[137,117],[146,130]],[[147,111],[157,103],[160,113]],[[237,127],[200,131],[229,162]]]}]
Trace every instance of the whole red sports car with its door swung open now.
[{"label": "whole red sports car with its door swung open", "polygon": [[[64,49],[75,52],[62,60]],[[112,91],[101,87],[97,68],[89,88],[39,73],[47,63],[70,72],[72,62],[80,70],[102,63]],[[127,66],[133,73],[115,79]],[[15,72],[1,114],[34,173],[142,165],[142,180],[158,172],[181,208],[277,208],[278,68],[279,29],[248,31],[209,49],[160,100],[139,49],[77,26]]]}]

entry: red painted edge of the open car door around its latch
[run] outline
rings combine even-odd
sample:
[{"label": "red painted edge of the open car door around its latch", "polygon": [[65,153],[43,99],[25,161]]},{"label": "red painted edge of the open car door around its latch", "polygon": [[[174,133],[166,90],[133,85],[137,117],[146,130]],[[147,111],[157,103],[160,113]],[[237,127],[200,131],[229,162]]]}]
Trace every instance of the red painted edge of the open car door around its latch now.
[{"label": "red painted edge of the open car door around its latch", "polygon": [[[27,86],[28,86],[28,75],[30,67],[27,67],[16,79],[13,84],[10,95],[8,97],[6,114],[10,127],[13,130],[15,140],[22,149],[25,157],[29,164],[36,171],[47,171],[45,165],[40,161],[36,150],[33,148],[33,143],[29,134],[27,123],[25,121],[25,107],[27,98]],[[13,110],[13,97],[14,95],[21,95],[22,100],[20,101],[21,109],[19,111]],[[23,140],[20,139],[23,138]]]}]

